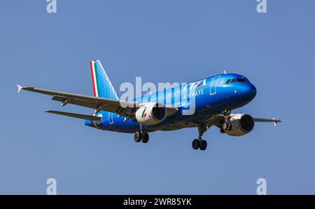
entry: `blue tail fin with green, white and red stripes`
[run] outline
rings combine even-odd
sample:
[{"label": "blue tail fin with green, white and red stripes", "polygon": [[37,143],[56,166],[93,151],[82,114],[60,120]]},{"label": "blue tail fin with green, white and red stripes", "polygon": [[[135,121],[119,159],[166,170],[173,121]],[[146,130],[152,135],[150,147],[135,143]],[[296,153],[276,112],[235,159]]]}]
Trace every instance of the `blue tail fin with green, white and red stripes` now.
[{"label": "blue tail fin with green, white and red stripes", "polygon": [[95,97],[104,97],[109,99],[119,99],[116,90],[113,88],[109,76],[107,76],[102,63],[99,60],[90,62],[93,90]]}]

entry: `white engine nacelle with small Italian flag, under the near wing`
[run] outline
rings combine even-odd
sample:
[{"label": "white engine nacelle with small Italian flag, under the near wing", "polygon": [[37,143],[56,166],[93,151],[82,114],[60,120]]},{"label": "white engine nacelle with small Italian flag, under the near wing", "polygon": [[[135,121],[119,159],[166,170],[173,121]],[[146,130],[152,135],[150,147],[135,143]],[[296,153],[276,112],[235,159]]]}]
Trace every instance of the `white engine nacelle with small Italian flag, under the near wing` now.
[{"label": "white engine nacelle with small Italian flag, under the near wing", "polygon": [[136,112],[138,123],[144,125],[155,125],[163,121],[167,116],[167,109],[162,104],[147,103],[139,107]]}]

